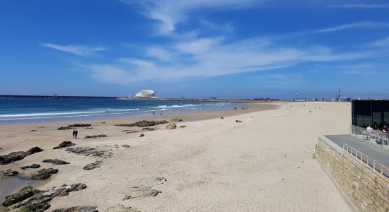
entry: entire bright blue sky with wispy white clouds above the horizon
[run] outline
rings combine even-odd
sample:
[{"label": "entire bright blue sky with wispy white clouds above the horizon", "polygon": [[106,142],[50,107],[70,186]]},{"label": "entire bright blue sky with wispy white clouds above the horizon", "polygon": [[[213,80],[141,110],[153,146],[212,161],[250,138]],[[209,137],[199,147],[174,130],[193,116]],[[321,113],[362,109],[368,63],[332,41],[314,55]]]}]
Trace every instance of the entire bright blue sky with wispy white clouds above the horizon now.
[{"label": "entire bright blue sky with wispy white clouds above the horizon", "polygon": [[389,2],[0,1],[0,93],[389,96]]}]

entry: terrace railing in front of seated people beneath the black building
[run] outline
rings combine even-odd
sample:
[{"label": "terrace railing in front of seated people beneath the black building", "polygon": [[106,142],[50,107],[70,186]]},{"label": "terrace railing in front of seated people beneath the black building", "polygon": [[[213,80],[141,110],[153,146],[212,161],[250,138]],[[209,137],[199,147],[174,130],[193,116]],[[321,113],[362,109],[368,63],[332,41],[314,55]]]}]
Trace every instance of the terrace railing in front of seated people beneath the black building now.
[{"label": "terrace railing in front of seated people beneath the black building", "polygon": [[387,134],[382,134],[376,131],[367,131],[360,126],[350,125],[350,134],[354,139],[364,143],[372,144],[373,146],[389,148],[389,137]]}]

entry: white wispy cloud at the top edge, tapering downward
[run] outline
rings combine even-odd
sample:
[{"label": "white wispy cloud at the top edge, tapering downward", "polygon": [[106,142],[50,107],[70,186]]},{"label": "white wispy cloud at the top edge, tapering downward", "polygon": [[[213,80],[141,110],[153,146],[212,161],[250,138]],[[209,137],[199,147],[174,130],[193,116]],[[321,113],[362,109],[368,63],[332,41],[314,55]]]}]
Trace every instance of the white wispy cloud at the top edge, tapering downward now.
[{"label": "white wispy cloud at the top edge, tapering downward", "polygon": [[[261,0],[269,1],[269,0]],[[170,34],[175,31],[178,23],[184,23],[187,17],[192,11],[201,8],[213,8],[213,9],[236,9],[247,7],[252,4],[259,4],[258,0],[197,0],[197,1],[151,1],[151,0],[139,0],[139,1],[124,1],[127,4],[138,4],[144,8],[144,16],[153,20],[158,20],[158,33]]]}]

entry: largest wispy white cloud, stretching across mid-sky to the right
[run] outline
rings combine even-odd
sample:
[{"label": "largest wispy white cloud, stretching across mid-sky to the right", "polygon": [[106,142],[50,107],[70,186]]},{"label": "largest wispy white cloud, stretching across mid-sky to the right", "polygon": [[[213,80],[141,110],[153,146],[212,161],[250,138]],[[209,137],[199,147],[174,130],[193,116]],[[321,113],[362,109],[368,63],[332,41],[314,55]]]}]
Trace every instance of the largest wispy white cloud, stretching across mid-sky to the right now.
[{"label": "largest wispy white cloud, stretching across mid-sky to the right", "polygon": [[[100,81],[128,85],[139,81],[171,81],[280,69],[303,62],[352,61],[383,56],[372,51],[335,52],[323,46],[284,47],[270,38],[258,37],[236,42],[220,37],[197,38],[158,48],[161,54],[170,52],[175,57],[161,59],[159,53],[154,57],[147,54],[147,59],[122,58],[112,64],[90,64],[88,70]],[[110,72],[114,74],[110,75]]]}]

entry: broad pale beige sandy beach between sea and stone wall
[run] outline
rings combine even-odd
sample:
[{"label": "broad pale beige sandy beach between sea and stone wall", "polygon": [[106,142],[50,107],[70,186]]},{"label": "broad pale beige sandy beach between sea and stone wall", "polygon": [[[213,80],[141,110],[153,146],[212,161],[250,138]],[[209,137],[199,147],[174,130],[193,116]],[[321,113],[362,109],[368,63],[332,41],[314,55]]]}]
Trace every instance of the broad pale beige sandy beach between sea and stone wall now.
[{"label": "broad pale beige sandy beach between sea and stone wall", "polygon": [[[0,155],[33,146],[45,149],[16,163],[0,165],[0,169],[13,168],[29,175],[35,170],[23,171],[18,167],[38,163],[59,169],[57,175],[39,184],[39,189],[76,182],[88,186],[69,196],[56,197],[48,211],[81,205],[107,211],[117,204],[141,211],[351,211],[323,167],[312,158],[318,135],[349,133],[351,104],[275,105],[279,107],[257,112],[250,109],[245,113],[181,115],[187,119],[218,118],[176,122],[178,126],[186,125],[182,129],[168,130],[158,125],[160,129],[156,131],[144,131],[144,137],[122,132],[131,128],[113,126],[129,120],[101,121],[105,124],[86,121],[93,124],[93,129],[79,130],[79,137],[108,136],[100,139],[70,139],[71,130],[57,130],[58,126],[72,124],[69,122],[0,125],[0,147],[4,148]],[[230,116],[219,118],[225,114]],[[242,123],[236,123],[236,119]],[[62,141],[97,147],[113,155],[101,159],[67,153],[64,149],[52,150]],[[123,144],[131,147],[124,148]],[[70,164],[41,163],[54,158]],[[82,169],[95,160],[103,161],[101,167]],[[166,177],[167,181],[155,182],[156,176]],[[162,193],[123,200],[133,187],[141,184]]]}]

